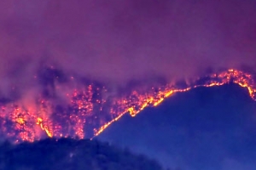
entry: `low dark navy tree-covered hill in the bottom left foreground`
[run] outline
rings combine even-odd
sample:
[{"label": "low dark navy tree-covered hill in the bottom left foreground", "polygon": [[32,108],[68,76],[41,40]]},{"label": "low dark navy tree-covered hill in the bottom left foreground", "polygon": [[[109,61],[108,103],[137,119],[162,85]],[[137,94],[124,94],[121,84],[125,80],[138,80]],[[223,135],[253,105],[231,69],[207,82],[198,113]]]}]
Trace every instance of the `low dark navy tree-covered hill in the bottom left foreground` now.
[{"label": "low dark navy tree-covered hill in the bottom left foreground", "polygon": [[161,170],[146,156],[89,139],[0,144],[1,170]]}]

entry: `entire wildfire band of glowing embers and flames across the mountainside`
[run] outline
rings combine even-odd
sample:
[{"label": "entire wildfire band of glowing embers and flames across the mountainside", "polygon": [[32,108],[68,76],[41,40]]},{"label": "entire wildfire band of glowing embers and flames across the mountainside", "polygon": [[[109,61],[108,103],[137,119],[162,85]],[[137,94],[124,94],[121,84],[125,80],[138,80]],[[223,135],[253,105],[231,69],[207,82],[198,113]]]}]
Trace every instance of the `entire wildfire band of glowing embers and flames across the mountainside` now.
[{"label": "entire wildfire band of glowing embers and flames across the mountainside", "polygon": [[248,94],[256,100],[253,76],[232,69],[200,78],[187,84],[186,88],[169,83],[149,88],[148,91],[134,90],[123,96],[109,95],[107,88],[90,84],[67,93],[65,105],[56,105],[54,100],[41,98],[38,99],[36,109],[27,108],[19,102],[0,105],[0,134],[15,142],[41,139],[42,132],[48,137],[91,138],[102,133],[126,113],[137,116],[144,108],[160,105],[173,94],[229,82],[247,88]]}]

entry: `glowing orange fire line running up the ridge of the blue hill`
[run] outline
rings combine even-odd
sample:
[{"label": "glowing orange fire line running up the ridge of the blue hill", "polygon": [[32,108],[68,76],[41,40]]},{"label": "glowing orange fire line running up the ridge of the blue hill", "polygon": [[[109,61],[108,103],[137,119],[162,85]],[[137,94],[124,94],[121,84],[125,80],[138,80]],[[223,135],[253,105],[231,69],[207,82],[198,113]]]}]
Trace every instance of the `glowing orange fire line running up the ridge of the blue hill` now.
[{"label": "glowing orange fire line running up the ridge of the blue hill", "polygon": [[[143,96],[137,96],[137,103],[135,104],[136,107],[138,107],[137,111],[134,109],[134,107],[128,108],[124,113],[129,112],[131,116],[136,116],[140,111],[143,111],[143,109],[147,106],[157,106],[160,105],[161,102],[164,101],[164,99],[170,97],[172,94],[175,94],[177,92],[186,92],[189,91],[192,88],[199,88],[199,87],[213,87],[213,86],[222,86],[226,83],[234,82],[238,85],[240,85],[242,88],[247,88],[248,93],[250,94],[251,98],[256,100],[256,84],[253,80],[252,75],[249,75],[242,71],[236,71],[233,69],[230,69],[228,71],[221,72],[220,74],[212,74],[209,76],[209,81],[204,82],[201,85],[189,85],[189,88],[173,88],[172,84],[166,85],[166,87],[161,88],[158,93],[151,94],[150,92],[148,94],[144,94]],[[152,88],[153,89],[153,88]],[[125,101],[125,100],[123,100]],[[142,104],[142,101],[147,101]],[[130,101],[132,102],[132,101]],[[129,102],[123,102],[124,104],[127,104]],[[99,128],[98,131],[96,131],[95,135],[98,135],[104,131],[105,128],[107,128],[112,122],[118,121],[118,119],[124,115],[124,113],[120,114],[120,116],[116,117],[114,121],[108,122],[102,127]]]}]

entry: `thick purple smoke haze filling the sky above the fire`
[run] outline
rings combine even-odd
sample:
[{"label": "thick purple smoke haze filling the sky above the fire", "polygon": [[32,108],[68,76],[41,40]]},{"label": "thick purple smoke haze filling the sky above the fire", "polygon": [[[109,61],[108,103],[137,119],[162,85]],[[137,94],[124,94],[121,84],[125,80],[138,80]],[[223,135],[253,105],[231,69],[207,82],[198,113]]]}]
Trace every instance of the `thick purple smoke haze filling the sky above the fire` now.
[{"label": "thick purple smoke haze filling the sky above the fire", "polygon": [[255,19],[253,0],[2,0],[1,87],[42,63],[117,83],[254,67]]}]

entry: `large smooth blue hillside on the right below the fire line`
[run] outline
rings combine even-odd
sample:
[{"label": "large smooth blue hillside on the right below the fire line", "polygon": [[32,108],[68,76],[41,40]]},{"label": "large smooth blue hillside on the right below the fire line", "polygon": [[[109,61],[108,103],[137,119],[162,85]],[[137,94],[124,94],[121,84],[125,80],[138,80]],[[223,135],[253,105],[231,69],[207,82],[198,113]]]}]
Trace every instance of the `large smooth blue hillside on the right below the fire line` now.
[{"label": "large smooth blue hillside on the right below the fire line", "polygon": [[233,83],[195,88],[135,117],[123,116],[97,139],[168,167],[255,170],[256,102]]}]

